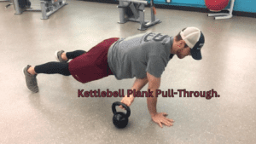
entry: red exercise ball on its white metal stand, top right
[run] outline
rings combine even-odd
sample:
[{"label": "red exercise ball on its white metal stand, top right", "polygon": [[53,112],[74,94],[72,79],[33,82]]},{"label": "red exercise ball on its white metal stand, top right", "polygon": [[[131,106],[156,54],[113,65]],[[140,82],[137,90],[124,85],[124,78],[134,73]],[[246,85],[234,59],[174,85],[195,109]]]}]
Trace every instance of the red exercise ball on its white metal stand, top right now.
[{"label": "red exercise ball on its white metal stand, top right", "polygon": [[[213,12],[220,12],[221,10],[228,10],[228,13],[208,14],[214,16],[215,20],[230,19],[233,16],[233,8],[235,0],[205,0],[206,6]],[[230,2],[230,9],[224,9]]]}]

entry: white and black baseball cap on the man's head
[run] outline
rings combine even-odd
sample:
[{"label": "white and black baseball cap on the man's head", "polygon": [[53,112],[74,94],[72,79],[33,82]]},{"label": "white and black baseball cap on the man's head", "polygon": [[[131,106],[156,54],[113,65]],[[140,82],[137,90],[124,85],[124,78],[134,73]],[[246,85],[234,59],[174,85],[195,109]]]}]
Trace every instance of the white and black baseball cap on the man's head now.
[{"label": "white and black baseball cap on the man's head", "polygon": [[189,46],[190,53],[195,60],[201,60],[201,48],[205,43],[205,37],[196,27],[187,27],[180,32],[181,37]]}]

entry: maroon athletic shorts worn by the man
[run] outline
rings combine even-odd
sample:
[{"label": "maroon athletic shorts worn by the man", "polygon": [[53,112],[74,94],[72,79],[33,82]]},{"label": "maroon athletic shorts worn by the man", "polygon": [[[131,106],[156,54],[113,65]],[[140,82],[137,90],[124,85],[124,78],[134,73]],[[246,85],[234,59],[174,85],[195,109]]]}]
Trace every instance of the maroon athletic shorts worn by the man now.
[{"label": "maroon athletic shorts worn by the man", "polygon": [[113,75],[108,66],[108,49],[119,38],[108,38],[91,48],[86,55],[69,62],[69,71],[73,78],[85,84]]}]

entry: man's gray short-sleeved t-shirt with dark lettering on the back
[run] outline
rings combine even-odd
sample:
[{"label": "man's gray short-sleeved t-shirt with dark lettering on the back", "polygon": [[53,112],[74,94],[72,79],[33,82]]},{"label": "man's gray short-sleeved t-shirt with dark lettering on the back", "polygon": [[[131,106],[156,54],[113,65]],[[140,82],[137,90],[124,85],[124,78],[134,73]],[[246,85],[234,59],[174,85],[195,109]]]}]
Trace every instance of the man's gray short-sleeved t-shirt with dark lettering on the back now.
[{"label": "man's gray short-sleeved t-shirt with dark lettering on the back", "polygon": [[143,33],[120,38],[108,49],[108,66],[117,79],[146,78],[147,72],[160,78],[170,59],[173,37]]}]

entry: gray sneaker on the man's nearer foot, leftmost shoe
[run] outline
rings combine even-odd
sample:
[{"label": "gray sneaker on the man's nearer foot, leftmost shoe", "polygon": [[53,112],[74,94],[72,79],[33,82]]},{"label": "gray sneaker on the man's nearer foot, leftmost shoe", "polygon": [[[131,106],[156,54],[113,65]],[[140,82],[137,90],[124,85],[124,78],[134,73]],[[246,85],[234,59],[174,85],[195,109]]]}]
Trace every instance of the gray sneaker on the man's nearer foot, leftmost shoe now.
[{"label": "gray sneaker on the man's nearer foot, leftmost shoe", "polygon": [[30,89],[32,92],[37,93],[38,92],[38,81],[37,81],[37,74],[32,75],[27,72],[28,68],[30,66],[27,65],[23,68],[23,73],[25,75],[26,79],[26,87]]}]

